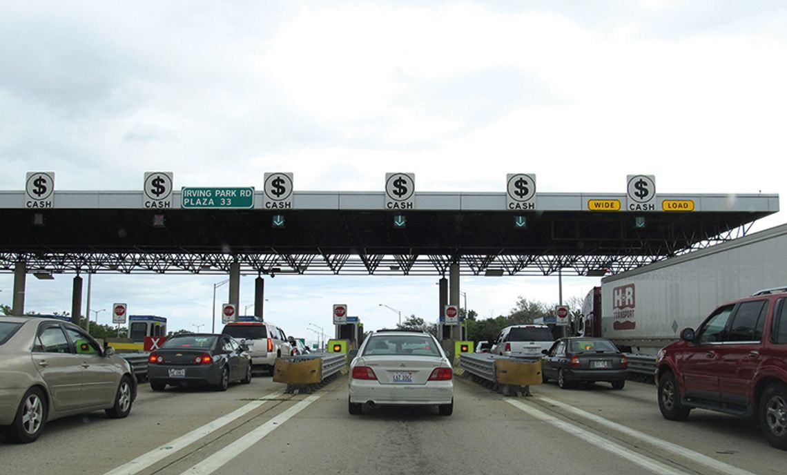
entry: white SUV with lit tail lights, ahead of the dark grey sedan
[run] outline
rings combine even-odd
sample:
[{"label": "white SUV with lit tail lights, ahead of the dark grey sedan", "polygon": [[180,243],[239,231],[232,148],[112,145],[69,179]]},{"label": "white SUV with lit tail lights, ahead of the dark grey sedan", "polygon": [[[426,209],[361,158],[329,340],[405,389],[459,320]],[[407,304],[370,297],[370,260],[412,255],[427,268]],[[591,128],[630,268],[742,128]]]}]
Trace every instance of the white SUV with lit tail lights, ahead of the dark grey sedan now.
[{"label": "white SUV with lit tail lights, ahead of the dark grey sedan", "polygon": [[249,347],[253,369],[268,370],[271,375],[276,358],[292,353],[284,330],[271,322],[231,322],[224,326],[221,333],[245,343]]}]

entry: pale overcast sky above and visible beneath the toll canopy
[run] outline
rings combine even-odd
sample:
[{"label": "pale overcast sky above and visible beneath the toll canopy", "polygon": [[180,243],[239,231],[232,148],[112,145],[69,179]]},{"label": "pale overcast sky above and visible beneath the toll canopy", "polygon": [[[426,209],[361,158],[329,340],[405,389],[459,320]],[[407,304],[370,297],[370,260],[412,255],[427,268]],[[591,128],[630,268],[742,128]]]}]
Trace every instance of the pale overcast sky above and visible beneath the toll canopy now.
[{"label": "pale overcast sky above and visible beneath the toll canopy", "polygon": [[[625,193],[648,174],[659,193],[787,195],[785,58],[780,1],[0,1],[0,190],[27,171],[57,190],[140,190],[145,171],[260,189],[291,171],[296,190],[382,191],[405,171],[419,191],[534,173],[539,192]],[[100,274],[91,307],[205,330],[220,280]],[[564,297],[598,283],[563,280]],[[266,315],[309,338],[342,303],[374,330],[397,320],[380,303],[431,317],[434,282],[281,276]],[[28,279],[26,309],[70,310],[71,284]],[[0,274],[0,302],[12,287]],[[558,300],[552,277],[462,289],[482,317]]]}]

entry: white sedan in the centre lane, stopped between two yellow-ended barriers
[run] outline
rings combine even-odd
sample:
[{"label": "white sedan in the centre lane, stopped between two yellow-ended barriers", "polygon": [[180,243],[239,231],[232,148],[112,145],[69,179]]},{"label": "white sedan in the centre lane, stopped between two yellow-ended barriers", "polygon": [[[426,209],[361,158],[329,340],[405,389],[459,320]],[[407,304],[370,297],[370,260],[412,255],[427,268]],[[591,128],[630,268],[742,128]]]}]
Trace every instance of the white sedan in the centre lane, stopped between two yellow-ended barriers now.
[{"label": "white sedan in the centre lane, stopped between two yellow-ended barriers", "polygon": [[349,413],[362,405],[437,406],[453,413],[453,369],[429,333],[371,334],[350,364]]}]

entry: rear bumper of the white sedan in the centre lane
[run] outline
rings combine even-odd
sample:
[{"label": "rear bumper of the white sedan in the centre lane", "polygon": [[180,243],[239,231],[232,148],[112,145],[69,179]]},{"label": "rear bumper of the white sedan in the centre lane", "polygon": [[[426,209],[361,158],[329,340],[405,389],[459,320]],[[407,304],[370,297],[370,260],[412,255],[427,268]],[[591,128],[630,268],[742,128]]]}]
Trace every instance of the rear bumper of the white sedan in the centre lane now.
[{"label": "rear bumper of the white sedan in the centre lane", "polygon": [[378,381],[350,380],[351,403],[423,406],[449,404],[453,399],[453,381],[430,381],[426,385],[381,385]]}]

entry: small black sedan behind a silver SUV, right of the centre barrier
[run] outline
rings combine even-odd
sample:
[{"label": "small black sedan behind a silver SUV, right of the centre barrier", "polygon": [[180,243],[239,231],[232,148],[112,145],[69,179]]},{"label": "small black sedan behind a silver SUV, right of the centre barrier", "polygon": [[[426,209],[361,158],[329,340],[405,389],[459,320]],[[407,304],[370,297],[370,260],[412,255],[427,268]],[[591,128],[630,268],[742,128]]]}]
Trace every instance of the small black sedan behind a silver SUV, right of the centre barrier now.
[{"label": "small black sedan behind a silver SUV, right of the centre barrier", "polygon": [[556,379],[563,389],[575,382],[608,381],[614,389],[626,385],[628,359],[606,338],[560,338],[542,353],[544,382]]}]

